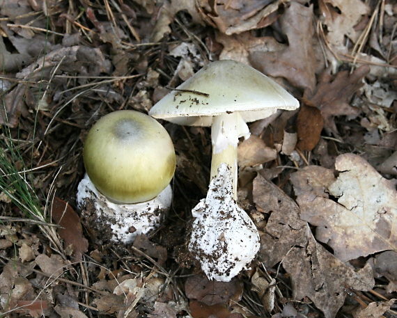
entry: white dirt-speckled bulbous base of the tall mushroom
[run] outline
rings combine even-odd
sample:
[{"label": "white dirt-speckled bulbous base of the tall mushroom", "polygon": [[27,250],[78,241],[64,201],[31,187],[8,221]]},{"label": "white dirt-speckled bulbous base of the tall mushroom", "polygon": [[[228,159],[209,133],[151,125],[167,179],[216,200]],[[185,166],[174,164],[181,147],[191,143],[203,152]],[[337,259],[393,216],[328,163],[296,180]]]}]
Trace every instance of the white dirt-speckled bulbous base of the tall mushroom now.
[{"label": "white dirt-speckled bulbous base of the tall mushroom", "polygon": [[254,222],[233,199],[231,169],[221,164],[207,198],[192,210],[189,251],[208,279],[230,281],[247,268],[259,250]]}]

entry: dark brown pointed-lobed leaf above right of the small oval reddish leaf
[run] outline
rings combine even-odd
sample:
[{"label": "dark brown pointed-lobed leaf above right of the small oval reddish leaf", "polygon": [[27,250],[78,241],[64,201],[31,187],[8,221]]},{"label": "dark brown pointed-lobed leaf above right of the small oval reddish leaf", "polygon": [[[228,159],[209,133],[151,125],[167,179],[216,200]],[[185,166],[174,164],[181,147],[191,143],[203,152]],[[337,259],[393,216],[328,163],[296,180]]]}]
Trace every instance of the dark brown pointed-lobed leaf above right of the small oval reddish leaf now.
[{"label": "dark brown pointed-lobed leaf above right of the small oval reddish leaf", "polygon": [[334,116],[345,115],[352,119],[359,114],[359,109],[350,106],[350,98],[363,86],[361,80],[368,74],[369,67],[361,65],[352,74],[348,71],[338,72],[334,79],[327,72],[320,77],[317,92],[309,98],[309,102],[320,109],[327,132],[338,136]]}]

